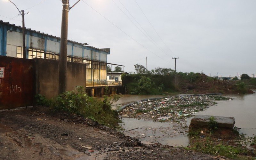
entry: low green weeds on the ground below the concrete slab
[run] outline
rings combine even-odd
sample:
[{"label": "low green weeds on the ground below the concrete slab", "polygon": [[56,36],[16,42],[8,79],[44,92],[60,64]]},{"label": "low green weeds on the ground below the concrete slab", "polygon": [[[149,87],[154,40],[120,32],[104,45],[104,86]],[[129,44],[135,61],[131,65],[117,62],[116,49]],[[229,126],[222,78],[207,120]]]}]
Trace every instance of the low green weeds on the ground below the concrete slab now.
[{"label": "low green weeds on the ground below the concrete slab", "polygon": [[206,137],[206,140],[196,139],[196,141],[190,144],[188,150],[197,150],[202,153],[211,155],[225,156],[226,158],[236,159],[238,155],[246,155],[248,151],[242,147],[233,147],[225,144],[215,144],[210,137]]}]

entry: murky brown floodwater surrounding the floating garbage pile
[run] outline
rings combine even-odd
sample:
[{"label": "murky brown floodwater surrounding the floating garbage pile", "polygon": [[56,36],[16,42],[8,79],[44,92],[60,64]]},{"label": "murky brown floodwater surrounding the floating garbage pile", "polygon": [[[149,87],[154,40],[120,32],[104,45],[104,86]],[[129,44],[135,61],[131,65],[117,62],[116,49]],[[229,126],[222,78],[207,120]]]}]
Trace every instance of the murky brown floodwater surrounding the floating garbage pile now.
[{"label": "murky brown floodwater surrounding the floating garbage pile", "polygon": [[[255,92],[255,91],[254,91]],[[175,96],[175,95],[174,95]],[[253,136],[256,134],[256,94],[247,95],[222,95],[232,97],[234,100],[216,101],[217,106],[210,106],[205,111],[195,115],[227,116],[235,118],[235,126],[241,128],[240,132]],[[165,97],[164,95],[159,95]],[[138,101],[147,98],[158,98],[156,95],[123,95],[116,105],[128,104],[132,101]],[[182,126],[189,126],[191,118],[184,122]],[[150,119],[122,118],[122,127],[125,131],[139,127],[138,129],[124,132],[125,135],[136,137],[142,143],[162,143],[170,146],[187,146],[189,139],[188,129],[181,125],[170,122],[153,122]]]}]

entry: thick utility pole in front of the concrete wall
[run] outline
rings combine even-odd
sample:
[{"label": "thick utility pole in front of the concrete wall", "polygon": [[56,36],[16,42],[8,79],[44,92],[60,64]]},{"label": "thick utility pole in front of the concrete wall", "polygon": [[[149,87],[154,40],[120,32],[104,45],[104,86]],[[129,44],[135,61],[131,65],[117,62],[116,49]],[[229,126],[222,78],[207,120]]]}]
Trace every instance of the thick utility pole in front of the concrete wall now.
[{"label": "thick utility pole in front of the concrete wall", "polygon": [[59,94],[64,93],[67,90],[68,11],[69,11],[69,0],[62,0],[62,20],[61,20],[61,33],[60,33]]}]

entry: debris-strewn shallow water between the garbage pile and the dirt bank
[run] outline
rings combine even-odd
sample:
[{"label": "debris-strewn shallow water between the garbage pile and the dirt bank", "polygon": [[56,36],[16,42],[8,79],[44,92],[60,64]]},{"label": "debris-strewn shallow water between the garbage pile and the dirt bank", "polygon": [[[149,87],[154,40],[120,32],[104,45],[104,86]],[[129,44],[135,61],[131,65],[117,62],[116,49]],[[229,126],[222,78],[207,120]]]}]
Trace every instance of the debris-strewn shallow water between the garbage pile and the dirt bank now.
[{"label": "debris-strewn shallow water between the garbage pile and the dirt bank", "polygon": [[153,122],[152,120],[137,118],[122,118],[125,131],[139,127],[139,129],[124,132],[125,135],[135,137],[145,144],[161,143],[169,146],[188,146],[187,129],[180,124],[169,122]]}]

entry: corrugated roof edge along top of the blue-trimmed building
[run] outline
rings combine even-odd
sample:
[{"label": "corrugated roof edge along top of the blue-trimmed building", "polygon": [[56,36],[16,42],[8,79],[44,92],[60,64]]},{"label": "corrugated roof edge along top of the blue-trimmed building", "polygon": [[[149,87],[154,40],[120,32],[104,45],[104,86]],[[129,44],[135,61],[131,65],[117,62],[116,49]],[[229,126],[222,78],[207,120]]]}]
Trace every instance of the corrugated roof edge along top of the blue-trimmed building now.
[{"label": "corrugated roof edge along top of the blue-trimmed building", "polygon": [[[0,20],[0,23],[3,23],[3,24],[6,24],[6,25],[9,25],[9,26],[13,26],[13,27],[17,27],[17,28],[21,28],[21,26],[16,26],[15,24],[10,24],[9,22],[4,22],[3,20]],[[36,32],[38,34],[42,34],[42,35],[45,35],[45,36],[50,36],[50,37],[54,37],[54,38],[57,38],[57,39],[60,39],[60,37],[57,37],[57,36],[53,36],[53,35],[49,35],[47,33],[44,33],[44,32],[40,32],[40,31],[36,31],[36,30],[32,30],[31,28],[26,28],[26,30],[30,31],[30,32]],[[79,42],[76,42],[76,41],[72,41],[72,40],[68,40],[68,42],[71,42],[71,43],[75,43],[75,44],[80,44],[80,45],[83,45],[84,43],[79,43]],[[105,52],[109,52],[108,49],[100,49],[100,48],[96,48],[96,47],[93,47],[93,46],[88,46],[86,45],[87,47],[90,47],[90,48],[93,48],[93,49],[97,49],[97,50],[101,50],[101,51],[105,51]]]}]

